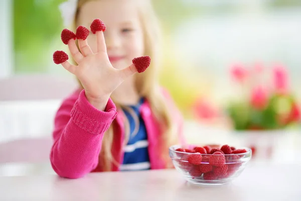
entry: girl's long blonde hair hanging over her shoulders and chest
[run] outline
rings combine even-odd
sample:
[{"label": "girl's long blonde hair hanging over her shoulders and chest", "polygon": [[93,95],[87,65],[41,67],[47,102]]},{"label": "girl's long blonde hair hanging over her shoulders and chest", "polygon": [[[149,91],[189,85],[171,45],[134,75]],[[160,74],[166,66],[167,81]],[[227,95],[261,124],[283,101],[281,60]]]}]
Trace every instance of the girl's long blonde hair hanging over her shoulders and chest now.
[{"label": "girl's long blonde hair hanging over her shoulders and chest", "polygon": [[[75,15],[74,21],[74,29],[77,26],[78,16],[80,12],[80,8],[86,4],[87,2],[91,1],[101,1],[101,0],[79,0],[77,11]],[[159,23],[155,15],[155,11],[152,7],[152,4],[149,0],[135,0],[135,3],[139,6],[139,17],[141,26],[144,33],[144,55],[150,56],[152,58],[152,62],[147,70],[143,73],[136,73],[135,80],[136,80],[136,89],[140,96],[143,96],[147,99],[150,109],[152,110],[155,118],[157,119],[158,123],[160,123],[162,131],[161,139],[159,140],[160,147],[158,147],[162,153],[161,156],[166,161],[166,168],[171,167],[171,163],[169,161],[168,156],[168,147],[172,144],[177,143],[175,141],[176,138],[176,124],[173,123],[172,115],[168,109],[168,105],[165,102],[165,97],[163,92],[159,86],[158,80],[158,66],[159,66],[159,41],[160,41],[160,28]],[[147,25],[147,26],[145,26]],[[79,82],[80,83],[80,82]],[[81,85],[81,84],[80,84]],[[81,86],[82,87],[82,86]],[[118,112],[120,111],[122,115],[122,109],[127,110],[134,118],[136,125],[138,124],[138,118],[134,114],[134,112],[126,106],[122,106],[116,100],[113,100],[114,104]],[[124,127],[125,127],[125,137],[124,137],[124,144],[126,145],[130,135],[129,123],[127,118],[124,119]],[[117,159],[113,158],[111,153],[111,147],[113,142],[113,124],[116,124],[116,120],[113,121],[112,125],[109,129],[105,132],[104,137],[102,139],[102,148],[99,154],[99,164],[102,165],[103,171],[110,171],[112,168],[112,163],[115,165],[119,165]],[[136,128],[137,129],[137,128]],[[135,131],[137,131],[135,129]]]}]

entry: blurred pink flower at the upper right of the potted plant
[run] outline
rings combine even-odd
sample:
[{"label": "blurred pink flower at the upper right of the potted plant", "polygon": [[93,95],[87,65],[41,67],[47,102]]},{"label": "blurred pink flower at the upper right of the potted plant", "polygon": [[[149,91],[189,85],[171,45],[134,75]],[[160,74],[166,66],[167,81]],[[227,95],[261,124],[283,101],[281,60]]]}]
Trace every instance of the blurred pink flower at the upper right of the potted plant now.
[{"label": "blurred pink flower at the upper right of the potted plant", "polygon": [[285,94],[288,90],[287,71],[283,66],[277,65],[273,69],[274,88],[277,93]]}]

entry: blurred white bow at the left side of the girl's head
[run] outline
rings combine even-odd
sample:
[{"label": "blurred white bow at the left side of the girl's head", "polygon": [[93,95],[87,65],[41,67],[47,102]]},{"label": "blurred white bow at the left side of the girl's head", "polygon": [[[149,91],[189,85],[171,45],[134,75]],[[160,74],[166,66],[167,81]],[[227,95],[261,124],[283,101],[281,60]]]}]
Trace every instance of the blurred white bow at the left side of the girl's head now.
[{"label": "blurred white bow at the left side of the girl's head", "polygon": [[65,27],[71,26],[74,21],[77,3],[78,0],[68,0],[67,2],[60,4],[59,9],[61,11]]}]

